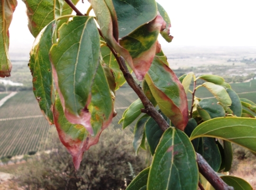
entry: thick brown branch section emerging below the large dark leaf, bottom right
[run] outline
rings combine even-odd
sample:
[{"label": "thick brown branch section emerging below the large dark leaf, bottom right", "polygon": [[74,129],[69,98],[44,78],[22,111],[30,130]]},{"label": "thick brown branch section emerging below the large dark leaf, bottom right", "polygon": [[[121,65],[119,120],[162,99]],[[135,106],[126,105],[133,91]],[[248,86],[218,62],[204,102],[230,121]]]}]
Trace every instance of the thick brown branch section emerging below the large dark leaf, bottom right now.
[{"label": "thick brown branch section emerging below the large dark leaf, bottom right", "polygon": [[234,190],[233,187],[228,186],[213,170],[211,166],[205,161],[203,156],[197,154],[197,165],[199,172],[207,179],[209,183],[216,190]]}]

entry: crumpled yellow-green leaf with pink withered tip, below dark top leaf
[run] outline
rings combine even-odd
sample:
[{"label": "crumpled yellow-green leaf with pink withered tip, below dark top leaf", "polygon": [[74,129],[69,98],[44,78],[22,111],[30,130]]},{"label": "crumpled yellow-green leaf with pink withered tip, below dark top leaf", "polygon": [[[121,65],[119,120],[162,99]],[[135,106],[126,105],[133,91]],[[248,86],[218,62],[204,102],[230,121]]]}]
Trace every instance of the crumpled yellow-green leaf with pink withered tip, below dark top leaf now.
[{"label": "crumpled yellow-green leaf with pink withered tip, below dark top leaf", "polygon": [[132,57],[132,65],[128,63],[139,80],[148,72],[157,52],[157,38],[164,23],[161,15],[157,15],[150,23],[120,39],[120,45],[127,49]]}]

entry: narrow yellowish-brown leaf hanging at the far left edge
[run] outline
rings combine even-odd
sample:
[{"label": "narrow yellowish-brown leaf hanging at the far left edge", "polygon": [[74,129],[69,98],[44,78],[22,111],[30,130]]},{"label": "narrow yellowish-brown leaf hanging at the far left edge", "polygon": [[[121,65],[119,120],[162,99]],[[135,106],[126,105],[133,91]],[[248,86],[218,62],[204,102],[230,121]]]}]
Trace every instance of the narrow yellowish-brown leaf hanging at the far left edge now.
[{"label": "narrow yellowish-brown leaf hanging at the far left edge", "polygon": [[0,4],[0,77],[11,76],[12,64],[8,53],[9,27],[16,6],[16,0],[4,0]]}]

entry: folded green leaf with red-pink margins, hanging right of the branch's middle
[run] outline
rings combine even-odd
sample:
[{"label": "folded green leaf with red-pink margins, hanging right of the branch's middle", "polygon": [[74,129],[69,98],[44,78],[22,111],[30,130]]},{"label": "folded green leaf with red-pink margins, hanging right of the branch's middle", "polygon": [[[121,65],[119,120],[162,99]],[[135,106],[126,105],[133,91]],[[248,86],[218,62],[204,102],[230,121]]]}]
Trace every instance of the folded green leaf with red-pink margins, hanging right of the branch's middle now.
[{"label": "folded green leaf with red-pink margins, hanging right of the branch's middle", "polygon": [[163,114],[184,131],[188,122],[187,96],[175,73],[155,57],[145,79]]}]

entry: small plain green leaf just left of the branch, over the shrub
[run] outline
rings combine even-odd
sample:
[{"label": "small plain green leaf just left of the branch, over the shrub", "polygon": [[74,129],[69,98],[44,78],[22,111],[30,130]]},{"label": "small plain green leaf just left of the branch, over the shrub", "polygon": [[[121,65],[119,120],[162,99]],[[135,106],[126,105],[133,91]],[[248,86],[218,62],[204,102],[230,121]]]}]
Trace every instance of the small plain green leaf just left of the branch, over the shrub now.
[{"label": "small plain green leaf just left of the branch, over the shrub", "polygon": [[130,125],[141,114],[141,109],[144,108],[140,98],[133,102],[123,115],[123,129]]}]

